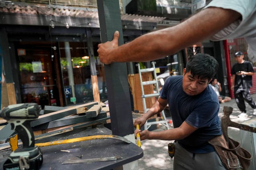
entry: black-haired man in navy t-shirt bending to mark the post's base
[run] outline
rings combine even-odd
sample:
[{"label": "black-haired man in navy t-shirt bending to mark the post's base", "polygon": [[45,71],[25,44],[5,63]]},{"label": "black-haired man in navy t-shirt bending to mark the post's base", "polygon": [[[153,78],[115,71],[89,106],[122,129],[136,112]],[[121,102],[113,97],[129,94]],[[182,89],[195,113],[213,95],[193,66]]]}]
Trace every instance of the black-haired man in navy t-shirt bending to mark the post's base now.
[{"label": "black-haired man in navy t-shirt bending to mark the post's base", "polygon": [[191,57],[183,76],[170,76],[158,101],[134,122],[142,127],[146,120],[168,104],[174,129],[151,132],[136,130],[140,139],[176,140],[174,170],[224,170],[214,148],[207,142],[221,135],[220,108],[216,92],[208,86],[217,72],[218,63],[210,55]]}]

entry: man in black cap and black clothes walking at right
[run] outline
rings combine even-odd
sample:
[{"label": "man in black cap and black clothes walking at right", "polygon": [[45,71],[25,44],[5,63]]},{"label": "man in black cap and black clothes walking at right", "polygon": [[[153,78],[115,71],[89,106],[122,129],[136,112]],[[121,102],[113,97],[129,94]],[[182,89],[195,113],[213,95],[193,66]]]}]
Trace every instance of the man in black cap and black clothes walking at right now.
[{"label": "man in black cap and black clothes walking at right", "polygon": [[252,87],[252,75],[254,75],[254,69],[249,61],[244,60],[244,54],[241,51],[235,53],[236,64],[233,65],[232,74],[232,87],[234,90],[234,96],[236,104],[242,113],[238,117],[244,117],[246,115],[246,107],[244,101],[246,101],[253,109],[253,114],[256,115],[256,105],[250,95],[250,88]]}]

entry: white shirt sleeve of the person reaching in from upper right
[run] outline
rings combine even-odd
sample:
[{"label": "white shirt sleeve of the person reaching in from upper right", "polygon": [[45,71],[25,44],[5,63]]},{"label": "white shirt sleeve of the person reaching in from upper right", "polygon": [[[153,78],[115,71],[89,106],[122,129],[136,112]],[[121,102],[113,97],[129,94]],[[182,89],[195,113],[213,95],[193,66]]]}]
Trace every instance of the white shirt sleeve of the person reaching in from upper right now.
[{"label": "white shirt sleeve of the person reaching in from upper right", "polygon": [[256,62],[256,0],[212,0],[206,7],[219,7],[234,10],[242,15],[242,20],[231,23],[210,40],[244,38],[248,43],[248,57]]}]

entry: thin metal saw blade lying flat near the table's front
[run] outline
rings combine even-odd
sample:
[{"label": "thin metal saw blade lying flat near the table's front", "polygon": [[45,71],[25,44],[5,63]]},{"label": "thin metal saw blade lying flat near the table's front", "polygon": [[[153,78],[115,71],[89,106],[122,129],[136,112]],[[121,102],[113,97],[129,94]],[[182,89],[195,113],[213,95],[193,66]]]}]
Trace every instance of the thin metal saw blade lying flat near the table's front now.
[{"label": "thin metal saw blade lying flat near the table's front", "polygon": [[110,157],[104,157],[104,158],[74,159],[74,160],[66,160],[65,162],[62,162],[62,164],[82,164],[82,163],[88,163],[88,162],[102,162],[102,161],[110,161],[110,160],[117,160],[117,159],[122,159],[122,157],[110,156]]}]

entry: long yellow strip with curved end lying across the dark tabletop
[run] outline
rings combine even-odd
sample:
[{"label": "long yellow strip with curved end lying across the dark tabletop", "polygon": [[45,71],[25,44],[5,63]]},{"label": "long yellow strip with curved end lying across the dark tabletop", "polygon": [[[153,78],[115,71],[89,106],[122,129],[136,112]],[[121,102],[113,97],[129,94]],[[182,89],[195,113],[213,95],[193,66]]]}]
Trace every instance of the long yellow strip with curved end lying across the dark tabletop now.
[{"label": "long yellow strip with curved end lying across the dark tabletop", "polygon": [[88,140],[94,140],[94,139],[119,139],[126,143],[130,143],[127,139],[124,137],[116,136],[116,135],[94,135],[94,136],[88,136],[88,137],[78,137],[73,139],[65,139],[61,141],[52,141],[52,142],[46,142],[46,143],[36,143],[35,145],[38,147],[47,147],[52,145],[61,145],[66,143],[74,143],[74,142],[80,142],[80,141],[88,141]]}]

